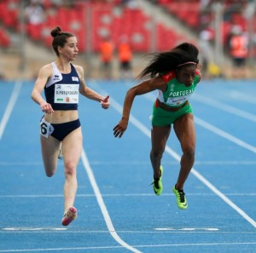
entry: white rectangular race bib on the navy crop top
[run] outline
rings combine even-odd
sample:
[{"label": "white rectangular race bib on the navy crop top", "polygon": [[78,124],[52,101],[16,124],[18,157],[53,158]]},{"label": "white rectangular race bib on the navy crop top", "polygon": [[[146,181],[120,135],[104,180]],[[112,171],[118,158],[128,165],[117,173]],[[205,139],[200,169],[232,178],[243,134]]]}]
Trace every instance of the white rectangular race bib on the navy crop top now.
[{"label": "white rectangular race bib on the navy crop top", "polygon": [[55,103],[78,104],[79,84],[55,84]]}]

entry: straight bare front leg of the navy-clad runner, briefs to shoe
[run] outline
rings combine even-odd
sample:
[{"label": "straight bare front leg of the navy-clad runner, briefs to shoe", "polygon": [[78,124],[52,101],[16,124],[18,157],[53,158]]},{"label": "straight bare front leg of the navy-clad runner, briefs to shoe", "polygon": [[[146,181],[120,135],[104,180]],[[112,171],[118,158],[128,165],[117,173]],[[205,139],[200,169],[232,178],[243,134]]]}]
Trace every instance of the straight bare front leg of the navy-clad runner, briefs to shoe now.
[{"label": "straight bare front leg of the navy-clad runner, briefs to shoe", "polygon": [[81,127],[74,129],[62,141],[62,155],[64,161],[65,184],[64,184],[64,210],[73,206],[78,188],[77,165],[82,152]]}]

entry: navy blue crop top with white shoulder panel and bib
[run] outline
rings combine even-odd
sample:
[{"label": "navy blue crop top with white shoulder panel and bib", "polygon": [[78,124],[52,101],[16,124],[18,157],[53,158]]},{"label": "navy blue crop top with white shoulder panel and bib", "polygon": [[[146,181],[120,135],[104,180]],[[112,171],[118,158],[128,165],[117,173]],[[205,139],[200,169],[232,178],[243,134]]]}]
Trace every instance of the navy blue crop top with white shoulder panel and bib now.
[{"label": "navy blue crop top with white shoulder panel and bib", "polygon": [[71,72],[61,73],[55,62],[51,63],[53,74],[45,84],[44,95],[46,101],[54,110],[77,110],[79,106],[79,74],[71,65]]}]

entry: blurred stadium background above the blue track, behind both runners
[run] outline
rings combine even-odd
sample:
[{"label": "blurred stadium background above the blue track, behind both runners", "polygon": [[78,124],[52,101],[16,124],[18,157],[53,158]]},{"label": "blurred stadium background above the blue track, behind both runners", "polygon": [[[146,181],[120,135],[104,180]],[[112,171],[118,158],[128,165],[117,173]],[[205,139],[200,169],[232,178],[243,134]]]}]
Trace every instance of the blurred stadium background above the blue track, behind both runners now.
[{"label": "blurred stadium background above the blue track, behind both runners", "polygon": [[3,80],[55,60],[55,26],[78,37],[87,78],[133,78],[143,55],[183,42],[199,47],[205,78],[256,78],[253,0],[0,0],[0,13]]}]

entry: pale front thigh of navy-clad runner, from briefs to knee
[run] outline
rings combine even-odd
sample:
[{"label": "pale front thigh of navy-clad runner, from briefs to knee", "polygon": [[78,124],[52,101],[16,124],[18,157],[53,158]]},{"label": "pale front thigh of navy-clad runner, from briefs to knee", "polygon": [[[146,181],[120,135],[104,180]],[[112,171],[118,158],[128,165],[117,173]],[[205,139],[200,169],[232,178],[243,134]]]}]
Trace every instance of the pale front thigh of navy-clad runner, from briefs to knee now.
[{"label": "pale front thigh of navy-clad runner, from briefs to knee", "polygon": [[62,155],[64,163],[78,164],[82,152],[82,129],[74,129],[62,141]]}]

